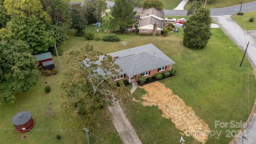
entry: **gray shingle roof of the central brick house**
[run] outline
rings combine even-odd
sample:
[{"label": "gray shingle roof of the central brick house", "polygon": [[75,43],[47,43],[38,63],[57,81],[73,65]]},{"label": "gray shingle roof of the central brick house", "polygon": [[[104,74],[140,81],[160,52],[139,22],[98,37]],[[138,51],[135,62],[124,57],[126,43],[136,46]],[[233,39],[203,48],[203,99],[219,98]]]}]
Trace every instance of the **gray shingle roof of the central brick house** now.
[{"label": "gray shingle roof of the central brick house", "polygon": [[123,73],[127,76],[134,76],[175,63],[153,44],[109,53],[111,56],[115,54],[119,55],[119,58],[115,59],[115,63],[123,69]]}]

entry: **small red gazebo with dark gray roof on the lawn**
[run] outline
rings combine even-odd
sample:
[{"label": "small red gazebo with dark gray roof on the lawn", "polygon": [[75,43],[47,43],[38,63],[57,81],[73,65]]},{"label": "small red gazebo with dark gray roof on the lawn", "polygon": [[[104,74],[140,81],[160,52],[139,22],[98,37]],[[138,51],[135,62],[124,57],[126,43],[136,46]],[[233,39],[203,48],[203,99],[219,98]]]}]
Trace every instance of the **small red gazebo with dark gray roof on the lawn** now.
[{"label": "small red gazebo with dark gray roof on the lawn", "polygon": [[16,127],[17,131],[21,133],[30,131],[35,125],[29,111],[21,111],[12,117],[12,124]]}]

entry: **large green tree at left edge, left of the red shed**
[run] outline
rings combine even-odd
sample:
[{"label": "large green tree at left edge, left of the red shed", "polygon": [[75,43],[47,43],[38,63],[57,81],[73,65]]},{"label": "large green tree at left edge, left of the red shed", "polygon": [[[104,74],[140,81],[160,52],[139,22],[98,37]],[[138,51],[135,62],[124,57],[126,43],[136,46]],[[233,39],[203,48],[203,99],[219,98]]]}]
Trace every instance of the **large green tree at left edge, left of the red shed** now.
[{"label": "large green tree at left edge, left of the red shed", "polygon": [[21,40],[0,41],[1,100],[14,103],[15,94],[27,91],[38,81],[36,59]]}]

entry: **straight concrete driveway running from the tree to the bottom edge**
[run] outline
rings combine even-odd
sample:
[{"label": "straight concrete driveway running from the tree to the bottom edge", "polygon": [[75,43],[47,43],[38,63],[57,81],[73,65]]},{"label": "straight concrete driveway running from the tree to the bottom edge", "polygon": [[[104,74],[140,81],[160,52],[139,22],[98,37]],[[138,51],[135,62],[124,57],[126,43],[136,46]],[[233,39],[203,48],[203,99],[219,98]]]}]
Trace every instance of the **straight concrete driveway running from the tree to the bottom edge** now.
[{"label": "straight concrete driveway running from the tree to the bottom edge", "polygon": [[108,108],[113,115],[112,121],[122,142],[124,144],[142,144],[118,101],[113,100],[113,106]]}]

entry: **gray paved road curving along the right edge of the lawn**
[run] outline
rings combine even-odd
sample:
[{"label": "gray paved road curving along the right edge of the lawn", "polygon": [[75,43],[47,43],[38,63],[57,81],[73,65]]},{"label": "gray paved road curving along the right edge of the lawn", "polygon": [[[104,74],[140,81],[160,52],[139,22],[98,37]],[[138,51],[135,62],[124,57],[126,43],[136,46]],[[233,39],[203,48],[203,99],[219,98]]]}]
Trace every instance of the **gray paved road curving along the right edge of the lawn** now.
[{"label": "gray paved road curving along the right edge of the lawn", "polygon": [[[250,45],[247,49],[247,57],[252,61],[254,67],[256,67],[256,39],[247,33],[246,30],[241,28],[230,15],[222,16],[212,16],[213,20],[218,23],[223,31],[231,38],[233,41],[245,51],[246,41],[250,41]],[[246,41],[245,41],[246,38]],[[244,144],[256,143],[256,114],[254,114],[253,121],[250,123],[249,127],[244,132]],[[240,137],[236,144],[241,144],[242,138]]]}]

